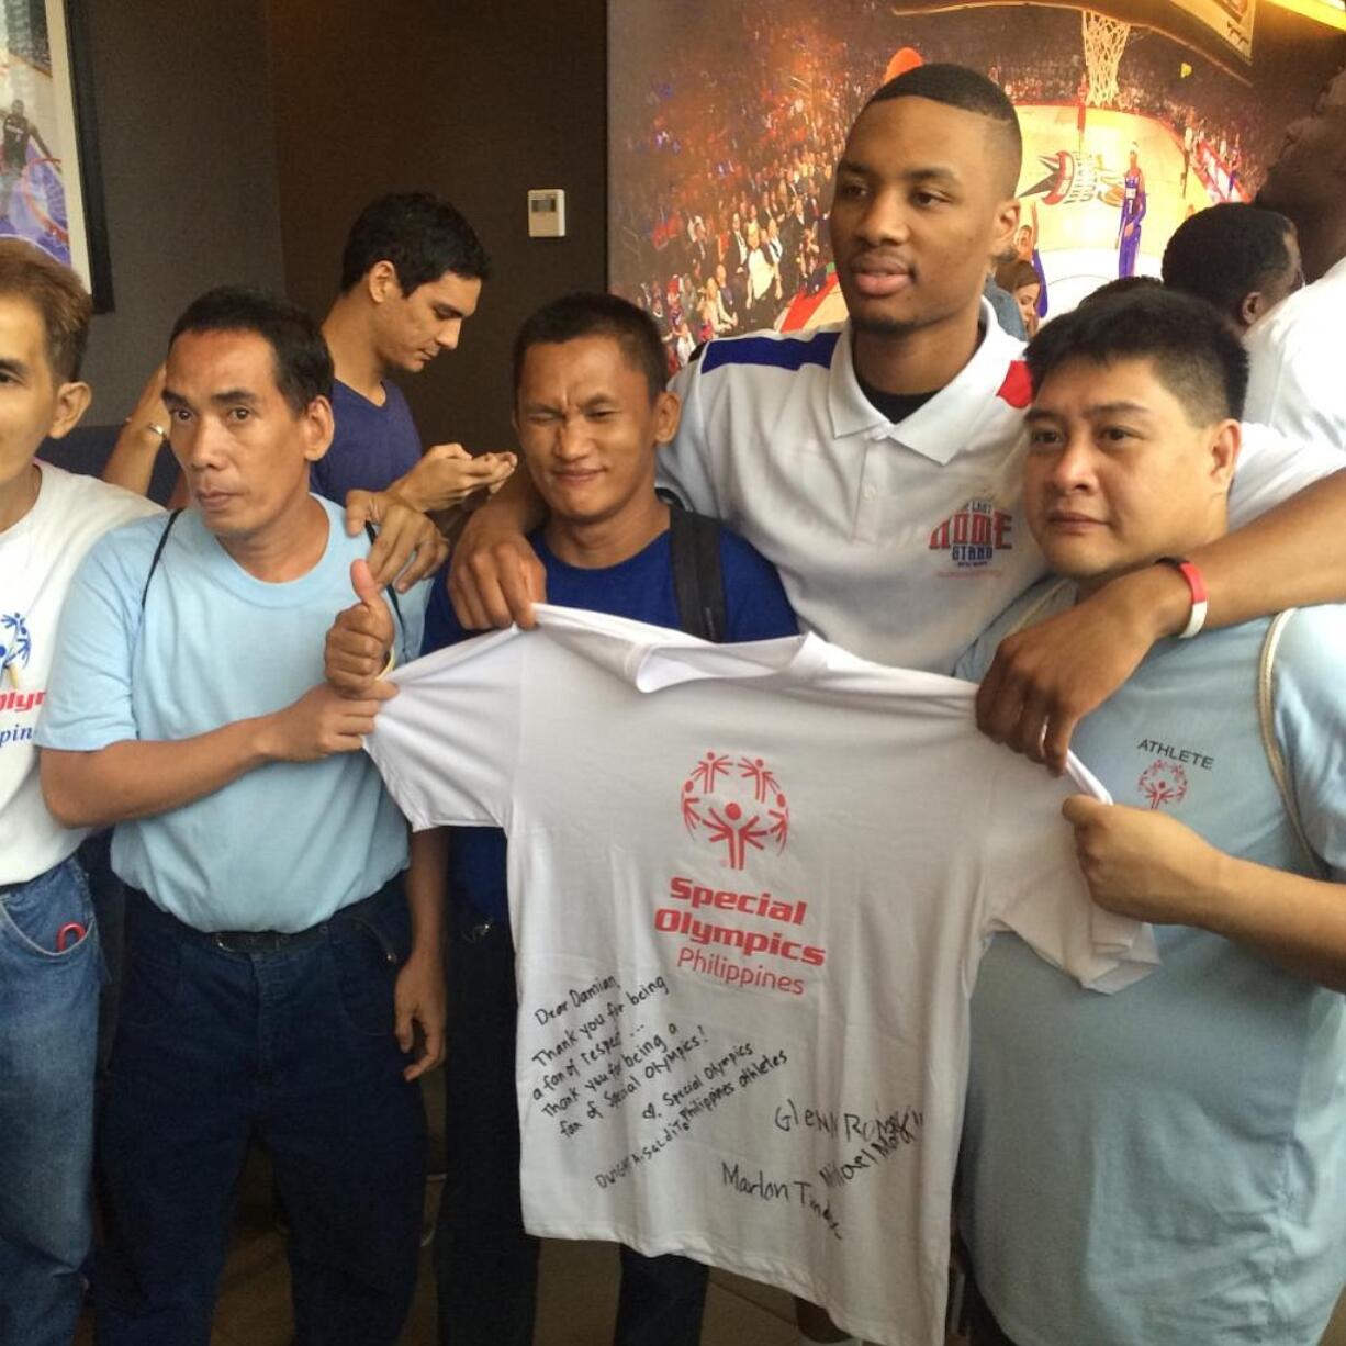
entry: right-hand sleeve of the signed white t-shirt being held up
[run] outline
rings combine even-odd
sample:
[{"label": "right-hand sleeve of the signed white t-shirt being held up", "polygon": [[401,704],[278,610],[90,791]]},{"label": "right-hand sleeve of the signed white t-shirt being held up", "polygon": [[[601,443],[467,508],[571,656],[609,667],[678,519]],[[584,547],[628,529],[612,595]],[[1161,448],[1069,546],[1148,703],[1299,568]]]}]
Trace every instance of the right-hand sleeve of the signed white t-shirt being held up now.
[{"label": "right-hand sleeve of the signed white t-shirt being held up", "polygon": [[1075,860],[1066,794],[1108,793],[1071,759],[1066,783],[1004,751],[991,782],[983,832],[983,890],[989,930],[1012,930],[1039,957],[1089,991],[1113,992],[1158,962],[1154,930],[1100,907]]}]

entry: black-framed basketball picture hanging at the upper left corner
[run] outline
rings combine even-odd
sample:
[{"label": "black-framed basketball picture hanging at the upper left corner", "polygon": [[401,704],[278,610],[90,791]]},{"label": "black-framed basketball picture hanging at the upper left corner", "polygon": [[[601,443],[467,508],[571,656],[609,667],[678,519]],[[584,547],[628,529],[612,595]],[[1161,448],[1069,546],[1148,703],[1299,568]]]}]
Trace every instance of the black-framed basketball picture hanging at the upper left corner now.
[{"label": "black-framed basketball picture hanging at the upper left corner", "polygon": [[0,0],[0,237],[73,267],[112,308],[85,0]]}]

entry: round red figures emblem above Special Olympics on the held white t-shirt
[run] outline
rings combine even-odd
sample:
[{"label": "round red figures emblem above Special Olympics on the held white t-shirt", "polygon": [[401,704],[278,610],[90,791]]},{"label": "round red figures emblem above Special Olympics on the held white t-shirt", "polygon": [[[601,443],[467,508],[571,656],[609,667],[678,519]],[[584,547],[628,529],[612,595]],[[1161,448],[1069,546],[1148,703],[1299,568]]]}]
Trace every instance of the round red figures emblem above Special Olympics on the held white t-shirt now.
[{"label": "round red figures emblem above Special Olympics on the held white t-shirt", "polygon": [[775,773],[752,756],[705,752],[680,791],[682,825],[711,847],[724,847],[731,870],[742,870],[748,851],[777,853],[790,839],[790,802]]}]

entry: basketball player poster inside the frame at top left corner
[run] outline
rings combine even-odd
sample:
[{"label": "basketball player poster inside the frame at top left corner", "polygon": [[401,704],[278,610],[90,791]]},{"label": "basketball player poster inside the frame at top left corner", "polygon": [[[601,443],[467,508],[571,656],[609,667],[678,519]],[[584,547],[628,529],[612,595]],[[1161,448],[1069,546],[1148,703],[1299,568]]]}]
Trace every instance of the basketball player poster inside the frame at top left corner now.
[{"label": "basketball player poster inside the frame at top left corner", "polygon": [[73,267],[98,297],[62,0],[3,0],[0,62],[0,236]]}]

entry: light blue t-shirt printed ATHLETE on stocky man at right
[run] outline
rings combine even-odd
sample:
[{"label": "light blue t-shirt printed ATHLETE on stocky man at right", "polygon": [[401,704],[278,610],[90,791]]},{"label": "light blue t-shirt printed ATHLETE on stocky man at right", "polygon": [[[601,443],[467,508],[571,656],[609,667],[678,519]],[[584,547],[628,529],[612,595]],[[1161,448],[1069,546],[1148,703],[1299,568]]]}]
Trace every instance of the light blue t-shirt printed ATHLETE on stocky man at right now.
[{"label": "light blue t-shirt printed ATHLETE on stocky man at right", "polygon": [[[1074,590],[1020,599],[960,676],[1044,596],[1035,619]],[[1160,642],[1071,747],[1119,804],[1304,874],[1259,727],[1267,625]],[[1275,677],[1300,820],[1339,880],[1346,608],[1296,612]],[[983,958],[960,1209],[979,1285],[1018,1346],[1315,1346],[1346,1281],[1346,997],[1218,935],[1155,933],[1162,965],[1117,996],[1014,935]]]}]

